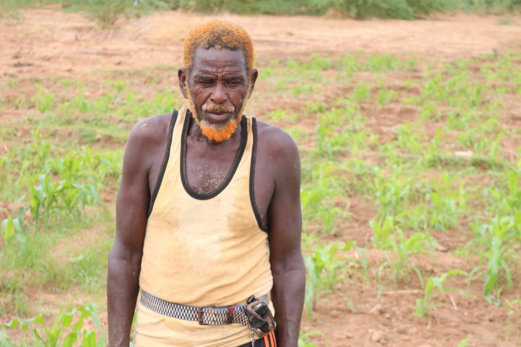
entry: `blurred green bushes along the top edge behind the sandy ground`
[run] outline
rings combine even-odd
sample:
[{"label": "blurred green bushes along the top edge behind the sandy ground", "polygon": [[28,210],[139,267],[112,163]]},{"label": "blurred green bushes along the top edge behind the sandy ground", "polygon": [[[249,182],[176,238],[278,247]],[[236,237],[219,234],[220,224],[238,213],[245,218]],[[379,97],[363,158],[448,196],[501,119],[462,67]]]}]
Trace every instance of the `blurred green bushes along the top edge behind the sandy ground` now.
[{"label": "blurred green bushes along the top edge behind the sandy ground", "polygon": [[154,10],[185,9],[201,13],[313,15],[413,20],[433,14],[466,11],[480,15],[521,12],[521,0],[0,0],[0,17],[17,16],[18,8],[58,4],[66,10],[86,11],[102,27],[120,17]]}]

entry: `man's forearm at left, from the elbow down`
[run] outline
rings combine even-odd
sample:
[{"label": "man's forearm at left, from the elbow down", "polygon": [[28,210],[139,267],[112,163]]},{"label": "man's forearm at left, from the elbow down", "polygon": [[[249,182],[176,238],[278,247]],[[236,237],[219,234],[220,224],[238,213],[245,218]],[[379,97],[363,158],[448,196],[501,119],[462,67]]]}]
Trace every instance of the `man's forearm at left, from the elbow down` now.
[{"label": "man's forearm at left, from the elbow down", "polygon": [[114,245],[109,252],[107,311],[109,347],[128,347],[139,293],[141,254],[126,255]]}]

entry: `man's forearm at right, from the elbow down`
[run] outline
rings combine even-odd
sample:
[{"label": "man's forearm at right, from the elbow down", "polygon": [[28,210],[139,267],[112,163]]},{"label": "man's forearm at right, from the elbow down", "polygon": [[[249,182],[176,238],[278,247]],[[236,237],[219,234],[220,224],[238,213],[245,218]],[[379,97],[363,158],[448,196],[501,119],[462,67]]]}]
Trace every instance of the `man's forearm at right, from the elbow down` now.
[{"label": "man's forearm at right, from the elbow down", "polygon": [[271,300],[275,306],[276,337],[280,347],[296,347],[299,341],[305,282],[303,262],[293,269],[274,273]]}]

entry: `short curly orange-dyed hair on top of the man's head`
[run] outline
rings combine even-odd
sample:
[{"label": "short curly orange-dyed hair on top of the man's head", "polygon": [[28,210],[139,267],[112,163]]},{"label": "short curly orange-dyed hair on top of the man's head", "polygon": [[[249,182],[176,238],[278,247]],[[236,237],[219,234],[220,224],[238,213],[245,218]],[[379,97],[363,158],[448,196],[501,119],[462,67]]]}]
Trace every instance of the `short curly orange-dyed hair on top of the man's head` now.
[{"label": "short curly orange-dyed hair on top of the man's head", "polygon": [[193,55],[197,47],[227,48],[231,51],[242,49],[246,59],[248,77],[252,76],[253,43],[250,35],[241,26],[227,21],[212,20],[190,31],[184,39],[183,57],[184,69],[188,75],[192,69]]}]

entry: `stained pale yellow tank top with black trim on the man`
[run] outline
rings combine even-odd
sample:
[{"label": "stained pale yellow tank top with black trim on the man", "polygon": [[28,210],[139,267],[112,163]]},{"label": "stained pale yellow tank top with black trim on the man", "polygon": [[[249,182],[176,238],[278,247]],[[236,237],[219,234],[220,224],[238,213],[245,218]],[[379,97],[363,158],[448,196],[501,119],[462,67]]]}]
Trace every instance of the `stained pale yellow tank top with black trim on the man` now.
[{"label": "stained pale yellow tank top with black trim on the man", "polygon": [[[250,295],[268,294],[273,284],[267,228],[253,196],[255,119],[243,117],[241,145],[227,178],[213,194],[202,196],[190,189],[186,178],[190,117],[183,108],[170,127],[151,199],[140,287],[184,305],[245,304]],[[269,306],[275,313],[271,302]],[[250,331],[241,324],[201,326],[171,318],[138,300],[134,346],[237,347],[251,341]]]}]

